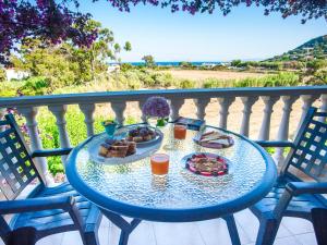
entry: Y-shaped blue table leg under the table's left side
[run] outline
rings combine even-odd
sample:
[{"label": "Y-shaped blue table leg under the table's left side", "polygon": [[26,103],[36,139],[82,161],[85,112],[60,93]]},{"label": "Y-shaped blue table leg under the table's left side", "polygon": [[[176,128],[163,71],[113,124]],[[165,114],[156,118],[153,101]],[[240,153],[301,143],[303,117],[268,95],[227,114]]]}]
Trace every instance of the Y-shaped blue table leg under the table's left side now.
[{"label": "Y-shaped blue table leg under the table's left side", "polygon": [[121,230],[119,245],[128,245],[130,234],[141,223],[142,220],[133,219],[131,222],[128,222],[124,218],[114,212],[110,212],[105,209],[102,209],[101,211],[104,216],[106,216],[114,225],[117,225]]}]

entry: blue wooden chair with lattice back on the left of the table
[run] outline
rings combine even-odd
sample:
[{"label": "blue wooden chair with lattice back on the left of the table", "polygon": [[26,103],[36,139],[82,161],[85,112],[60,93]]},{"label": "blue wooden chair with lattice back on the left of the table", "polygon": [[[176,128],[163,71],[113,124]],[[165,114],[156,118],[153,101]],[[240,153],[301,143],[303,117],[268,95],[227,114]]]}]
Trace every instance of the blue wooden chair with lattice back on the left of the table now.
[{"label": "blue wooden chair with lattice back on the left of the table", "polygon": [[[7,245],[32,245],[38,240],[77,230],[84,245],[98,244],[101,213],[78,195],[69,183],[46,187],[33,162],[35,157],[68,155],[71,149],[29,154],[12,114],[0,121],[0,237]],[[27,198],[19,199],[32,182],[37,182]],[[24,191],[24,192],[25,192]],[[10,220],[5,219],[11,215]]]}]

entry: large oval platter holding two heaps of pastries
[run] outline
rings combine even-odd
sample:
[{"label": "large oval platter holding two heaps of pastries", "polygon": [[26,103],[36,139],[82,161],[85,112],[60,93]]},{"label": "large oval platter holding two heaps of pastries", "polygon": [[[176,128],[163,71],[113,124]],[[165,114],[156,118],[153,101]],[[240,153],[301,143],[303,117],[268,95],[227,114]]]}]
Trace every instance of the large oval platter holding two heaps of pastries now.
[{"label": "large oval platter holding two heaps of pastries", "polygon": [[107,164],[121,164],[141,160],[155,154],[161,146],[162,133],[145,125],[119,128],[112,137],[95,136],[89,143],[90,158]]}]

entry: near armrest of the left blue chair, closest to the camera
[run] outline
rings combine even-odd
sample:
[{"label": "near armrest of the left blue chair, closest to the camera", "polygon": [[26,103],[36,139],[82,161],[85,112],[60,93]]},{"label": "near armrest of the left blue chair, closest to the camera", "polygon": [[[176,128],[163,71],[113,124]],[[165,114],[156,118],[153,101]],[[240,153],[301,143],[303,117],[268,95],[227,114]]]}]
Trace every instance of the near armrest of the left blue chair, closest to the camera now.
[{"label": "near armrest of the left blue chair, closest to the camera", "polygon": [[36,197],[22,200],[0,201],[0,215],[35,212],[49,209],[62,209],[69,211],[75,204],[70,196]]}]

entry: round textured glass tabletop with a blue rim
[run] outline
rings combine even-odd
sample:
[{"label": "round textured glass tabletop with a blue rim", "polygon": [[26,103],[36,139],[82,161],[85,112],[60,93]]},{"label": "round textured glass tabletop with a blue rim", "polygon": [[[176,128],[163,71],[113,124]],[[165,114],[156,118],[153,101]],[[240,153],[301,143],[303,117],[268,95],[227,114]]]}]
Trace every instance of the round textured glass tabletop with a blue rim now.
[{"label": "round textured glass tabletop with a blue rim", "polygon": [[[205,131],[213,128],[207,126]],[[223,131],[223,134],[233,138],[234,144],[229,148],[209,149],[193,140],[198,134],[196,131],[187,130],[185,139],[174,139],[173,124],[168,124],[161,131],[164,139],[157,152],[170,157],[169,172],[166,177],[152,174],[149,157],[119,166],[94,161],[88,147],[99,137],[105,140],[106,135],[100,134],[74,149],[66,168],[69,181],[92,201],[109,210],[119,207],[118,204],[166,211],[201,209],[238,199],[240,199],[239,205],[242,206],[242,201],[246,199],[244,197],[251,193],[254,195],[256,191],[257,195],[252,199],[249,198],[247,205],[258,199],[259,195],[262,197],[266,195],[271,187],[276,177],[276,168],[271,166],[270,157],[245,137]],[[227,158],[228,174],[204,176],[189,171],[181,160],[193,152],[214,152]]]}]

